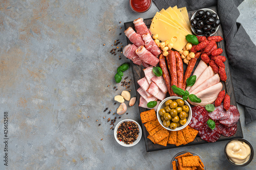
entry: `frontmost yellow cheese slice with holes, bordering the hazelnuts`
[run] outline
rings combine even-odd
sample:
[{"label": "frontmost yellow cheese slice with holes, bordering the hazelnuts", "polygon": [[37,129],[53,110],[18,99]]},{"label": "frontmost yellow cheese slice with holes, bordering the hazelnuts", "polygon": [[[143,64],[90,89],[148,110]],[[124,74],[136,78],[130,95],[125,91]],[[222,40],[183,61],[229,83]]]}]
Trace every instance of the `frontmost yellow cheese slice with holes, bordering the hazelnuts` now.
[{"label": "frontmost yellow cheese slice with holes, bordering the hazelnuts", "polygon": [[177,51],[181,51],[187,43],[186,33],[156,17],[152,19],[150,31],[153,35],[158,34],[158,39],[162,42],[168,40],[173,43],[173,48]]}]

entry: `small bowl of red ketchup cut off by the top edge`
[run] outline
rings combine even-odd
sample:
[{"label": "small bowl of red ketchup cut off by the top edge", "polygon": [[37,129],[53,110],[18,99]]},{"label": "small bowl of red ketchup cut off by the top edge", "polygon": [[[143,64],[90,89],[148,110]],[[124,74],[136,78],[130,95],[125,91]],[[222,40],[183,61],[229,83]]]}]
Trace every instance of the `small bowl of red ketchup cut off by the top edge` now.
[{"label": "small bowl of red ketchup cut off by the top edge", "polygon": [[150,9],[152,0],[130,0],[131,8],[136,12],[145,12]]}]

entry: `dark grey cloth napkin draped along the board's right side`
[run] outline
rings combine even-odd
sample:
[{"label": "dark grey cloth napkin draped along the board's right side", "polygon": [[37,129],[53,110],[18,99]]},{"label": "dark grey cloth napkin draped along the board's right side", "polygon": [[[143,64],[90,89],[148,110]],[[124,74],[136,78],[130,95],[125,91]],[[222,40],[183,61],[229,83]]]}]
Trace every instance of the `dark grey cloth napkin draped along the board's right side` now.
[{"label": "dark grey cloth napkin draped along the board's right side", "polygon": [[237,22],[240,15],[237,7],[243,0],[153,0],[153,2],[159,10],[176,5],[178,8],[186,7],[188,11],[218,7],[236,100],[245,107],[246,124],[256,119],[256,46],[241,23]]}]

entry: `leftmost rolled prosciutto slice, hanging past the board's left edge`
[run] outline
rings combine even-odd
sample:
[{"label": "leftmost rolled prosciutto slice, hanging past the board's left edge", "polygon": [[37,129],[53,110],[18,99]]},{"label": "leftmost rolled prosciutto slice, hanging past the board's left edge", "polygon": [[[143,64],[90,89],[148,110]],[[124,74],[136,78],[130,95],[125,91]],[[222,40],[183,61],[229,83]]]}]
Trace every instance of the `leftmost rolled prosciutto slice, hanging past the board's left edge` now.
[{"label": "leftmost rolled prosciutto slice, hanging past the board's left edge", "polygon": [[136,54],[138,47],[134,44],[128,44],[123,48],[123,55],[133,61],[134,64],[141,65],[141,60]]}]

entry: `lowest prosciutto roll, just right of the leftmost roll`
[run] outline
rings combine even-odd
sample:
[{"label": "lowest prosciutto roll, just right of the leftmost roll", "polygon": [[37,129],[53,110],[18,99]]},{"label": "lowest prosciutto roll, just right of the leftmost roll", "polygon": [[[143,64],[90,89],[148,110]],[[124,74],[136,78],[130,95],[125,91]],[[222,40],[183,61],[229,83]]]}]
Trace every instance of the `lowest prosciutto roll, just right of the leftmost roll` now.
[{"label": "lowest prosciutto roll, just right of the leftmost roll", "polygon": [[136,54],[139,56],[140,60],[146,64],[156,66],[159,63],[159,59],[154,56],[151,52],[147,51],[144,46],[138,47]]}]

